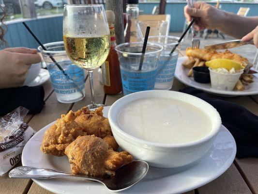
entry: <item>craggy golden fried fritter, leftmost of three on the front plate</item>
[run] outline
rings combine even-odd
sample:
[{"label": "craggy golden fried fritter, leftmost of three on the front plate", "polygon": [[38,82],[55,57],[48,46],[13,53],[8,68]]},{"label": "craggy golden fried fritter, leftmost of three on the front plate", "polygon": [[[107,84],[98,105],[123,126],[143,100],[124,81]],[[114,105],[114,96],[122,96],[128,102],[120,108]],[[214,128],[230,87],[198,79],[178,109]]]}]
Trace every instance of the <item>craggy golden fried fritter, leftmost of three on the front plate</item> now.
[{"label": "craggy golden fried fritter, leftmost of three on the front plate", "polygon": [[76,115],[74,112],[62,114],[49,129],[46,130],[41,150],[46,154],[54,156],[63,156],[64,149],[72,143],[78,136],[87,135],[86,132],[74,121]]}]

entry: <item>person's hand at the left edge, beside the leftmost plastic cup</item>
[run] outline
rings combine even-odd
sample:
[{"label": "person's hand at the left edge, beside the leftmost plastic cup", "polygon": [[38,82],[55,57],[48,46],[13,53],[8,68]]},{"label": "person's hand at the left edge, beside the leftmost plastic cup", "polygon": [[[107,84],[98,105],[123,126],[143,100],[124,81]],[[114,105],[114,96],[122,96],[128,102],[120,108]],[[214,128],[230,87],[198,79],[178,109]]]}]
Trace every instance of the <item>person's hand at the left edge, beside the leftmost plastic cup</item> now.
[{"label": "person's hand at the left edge, beside the leftmost plastic cup", "polygon": [[8,48],[0,50],[0,88],[23,85],[31,64],[41,62],[36,49]]}]

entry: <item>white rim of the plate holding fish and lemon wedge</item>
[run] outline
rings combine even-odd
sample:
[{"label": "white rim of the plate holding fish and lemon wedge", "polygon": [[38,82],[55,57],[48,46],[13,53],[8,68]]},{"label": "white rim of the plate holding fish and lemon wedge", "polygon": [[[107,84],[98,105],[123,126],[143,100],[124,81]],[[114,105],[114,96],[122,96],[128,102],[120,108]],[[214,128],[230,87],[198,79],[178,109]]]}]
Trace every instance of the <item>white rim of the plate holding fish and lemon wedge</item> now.
[{"label": "white rim of the plate holding fish and lemon wedge", "polygon": [[187,81],[184,81],[183,79],[181,79],[180,76],[178,75],[179,71],[180,71],[180,68],[182,68],[182,63],[181,64],[179,63],[179,59],[182,59],[182,60],[187,59],[187,56],[183,56],[183,57],[178,58],[178,62],[177,62],[177,65],[176,65],[176,70],[175,70],[175,77],[187,86],[194,87],[198,90],[202,90],[202,91],[205,91],[205,92],[208,92],[208,93],[211,93],[211,94],[215,94],[215,95],[224,95],[224,97],[227,97],[227,96],[228,97],[229,96],[231,96],[231,97],[250,96],[250,95],[257,95],[258,94],[258,90],[254,91],[254,92],[246,92],[244,90],[243,91],[226,91],[226,90],[216,90],[216,89],[211,90],[211,89],[203,88],[199,85],[193,85],[192,83],[188,83]]}]

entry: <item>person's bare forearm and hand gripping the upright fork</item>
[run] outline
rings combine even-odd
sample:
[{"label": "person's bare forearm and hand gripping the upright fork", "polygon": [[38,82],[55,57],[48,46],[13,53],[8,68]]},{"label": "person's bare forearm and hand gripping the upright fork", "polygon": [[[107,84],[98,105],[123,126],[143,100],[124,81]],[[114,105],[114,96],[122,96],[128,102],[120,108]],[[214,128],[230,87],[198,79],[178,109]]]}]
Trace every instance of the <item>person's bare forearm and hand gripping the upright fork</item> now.
[{"label": "person's bare forearm and hand gripping the upright fork", "polygon": [[195,8],[185,6],[184,15],[188,21],[196,20],[197,30],[217,29],[235,38],[242,38],[258,26],[258,17],[243,17],[221,11],[207,3],[197,2]]}]

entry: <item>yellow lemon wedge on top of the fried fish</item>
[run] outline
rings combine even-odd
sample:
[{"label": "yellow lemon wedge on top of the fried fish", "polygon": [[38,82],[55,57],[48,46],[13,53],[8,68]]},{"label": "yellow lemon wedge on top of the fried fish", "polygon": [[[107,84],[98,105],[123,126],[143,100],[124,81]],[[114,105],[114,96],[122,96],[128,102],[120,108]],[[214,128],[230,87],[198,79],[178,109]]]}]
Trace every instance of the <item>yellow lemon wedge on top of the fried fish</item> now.
[{"label": "yellow lemon wedge on top of the fried fish", "polygon": [[205,65],[212,69],[225,68],[228,71],[232,68],[235,68],[235,70],[241,70],[244,68],[240,63],[229,59],[213,59],[211,61],[207,61]]}]

